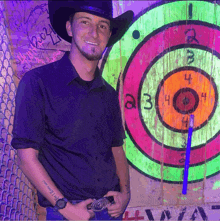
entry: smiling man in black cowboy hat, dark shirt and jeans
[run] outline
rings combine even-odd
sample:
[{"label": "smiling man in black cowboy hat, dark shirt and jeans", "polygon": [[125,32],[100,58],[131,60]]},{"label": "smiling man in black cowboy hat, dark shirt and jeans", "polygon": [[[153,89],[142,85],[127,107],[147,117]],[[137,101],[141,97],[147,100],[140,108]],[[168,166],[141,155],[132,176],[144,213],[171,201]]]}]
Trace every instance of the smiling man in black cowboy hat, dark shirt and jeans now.
[{"label": "smiling man in black cowboy hat, dark shirt and jeans", "polygon": [[[112,18],[111,1],[49,1],[54,30],[70,52],[20,81],[12,146],[38,190],[47,220],[121,220],[130,200],[125,138],[115,90],[97,67],[133,12]],[[114,204],[95,212],[94,199]]]}]

